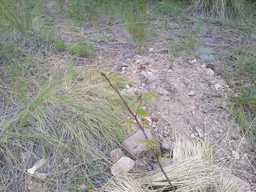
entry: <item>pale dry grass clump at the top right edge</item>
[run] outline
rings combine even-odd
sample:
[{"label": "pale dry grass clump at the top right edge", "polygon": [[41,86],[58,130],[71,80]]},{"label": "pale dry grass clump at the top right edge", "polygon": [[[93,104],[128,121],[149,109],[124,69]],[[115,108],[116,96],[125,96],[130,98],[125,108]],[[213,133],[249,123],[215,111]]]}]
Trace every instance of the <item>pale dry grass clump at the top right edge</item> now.
[{"label": "pale dry grass clump at the top right edge", "polygon": [[190,10],[202,11],[218,18],[244,18],[246,16],[245,0],[193,0]]}]

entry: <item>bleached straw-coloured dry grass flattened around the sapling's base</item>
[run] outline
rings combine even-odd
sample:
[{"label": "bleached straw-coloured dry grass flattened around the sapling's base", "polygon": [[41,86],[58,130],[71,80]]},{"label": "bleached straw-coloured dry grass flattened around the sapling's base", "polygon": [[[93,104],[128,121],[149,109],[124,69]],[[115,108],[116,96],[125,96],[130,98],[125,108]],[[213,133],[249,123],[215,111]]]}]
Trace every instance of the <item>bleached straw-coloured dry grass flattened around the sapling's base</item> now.
[{"label": "bleached straw-coloured dry grass flattened around the sapling's base", "polygon": [[[208,146],[208,147],[206,147]],[[173,143],[173,163],[164,167],[177,192],[242,192],[243,187],[231,180],[215,176],[223,171],[221,165],[212,163],[212,149],[207,141],[191,142],[187,138]],[[207,157],[207,158],[206,158]],[[160,169],[113,177],[101,191],[111,192],[163,192],[168,182]]]}]

